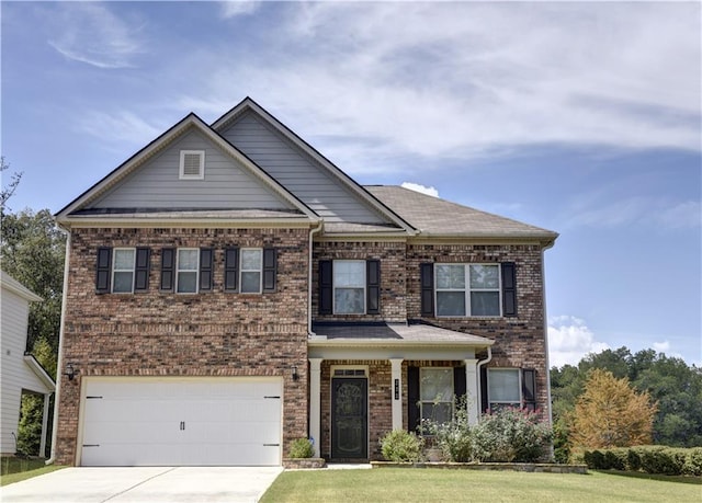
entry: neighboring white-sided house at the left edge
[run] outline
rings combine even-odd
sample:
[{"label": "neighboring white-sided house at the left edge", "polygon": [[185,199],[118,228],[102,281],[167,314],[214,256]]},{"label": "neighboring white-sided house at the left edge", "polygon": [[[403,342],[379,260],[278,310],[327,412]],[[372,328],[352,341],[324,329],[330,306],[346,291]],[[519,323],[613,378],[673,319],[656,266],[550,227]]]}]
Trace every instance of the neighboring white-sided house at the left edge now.
[{"label": "neighboring white-sided house at the left edge", "polygon": [[22,392],[33,392],[44,396],[44,418],[39,453],[29,454],[43,455],[46,446],[49,397],[56,390],[56,384],[34,356],[25,354],[30,302],[38,302],[42,298],[3,271],[0,271],[0,283],[2,284],[0,295],[0,351],[2,352],[0,453],[3,455],[15,454]]}]

